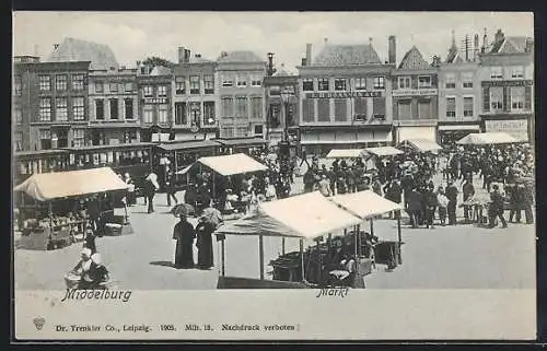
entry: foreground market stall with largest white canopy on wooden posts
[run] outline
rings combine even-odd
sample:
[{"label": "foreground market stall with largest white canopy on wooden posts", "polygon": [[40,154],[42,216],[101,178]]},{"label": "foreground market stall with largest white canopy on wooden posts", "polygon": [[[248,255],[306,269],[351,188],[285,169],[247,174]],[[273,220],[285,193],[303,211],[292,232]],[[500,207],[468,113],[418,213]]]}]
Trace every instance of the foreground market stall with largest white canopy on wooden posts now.
[{"label": "foreground market stall with largest white canopy on wooden posts", "polygon": [[[313,206],[311,206],[313,203]],[[243,219],[220,226],[216,234],[221,242],[221,277],[219,289],[241,288],[312,288],[325,286],[328,276],[326,257],[331,251],[327,245],[319,245],[328,234],[352,227],[361,219],[340,209],[321,192],[309,192],[271,202],[263,202],[256,211]],[[255,235],[259,241],[260,279],[228,277],[224,270],[225,235]],[[274,279],[265,280],[264,236],[278,236],[282,241],[282,255],[270,262]],[[300,241],[300,251],[284,253],[284,239]],[[304,241],[315,242],[304,251]],[[359,262],[357,269],[359,270]],[[362,277],[357,272],[356,277]],[[270,283],[271,282],[271,283]],[[364,288],[364,280],[354,280],[356,288]]]}]

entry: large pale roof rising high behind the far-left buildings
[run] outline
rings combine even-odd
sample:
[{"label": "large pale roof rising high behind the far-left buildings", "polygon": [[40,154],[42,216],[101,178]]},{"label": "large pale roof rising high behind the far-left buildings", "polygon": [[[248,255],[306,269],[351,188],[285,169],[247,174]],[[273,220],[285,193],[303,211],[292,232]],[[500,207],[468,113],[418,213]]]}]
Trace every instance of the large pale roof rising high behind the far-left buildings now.
[{"label": "large pale roof rising high behind the far-left buildings", "polygon": [[48,62],[91,61],[91,69],[107,70],[118,68],[118,62],[112,49],[104,44],[74,38],[65,38],[49,58]]}]

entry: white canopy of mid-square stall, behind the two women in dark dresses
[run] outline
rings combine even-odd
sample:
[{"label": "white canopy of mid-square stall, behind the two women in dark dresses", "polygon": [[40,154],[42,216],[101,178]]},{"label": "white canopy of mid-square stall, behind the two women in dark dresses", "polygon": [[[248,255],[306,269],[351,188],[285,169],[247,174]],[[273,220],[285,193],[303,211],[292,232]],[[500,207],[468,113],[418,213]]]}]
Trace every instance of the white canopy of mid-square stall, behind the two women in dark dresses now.
[{"label": "white canopy of mid-square stall, behind the two women in dark dresses", "polygon": [[235,153],[232,155],[200,157],[190,166],[178,171],[177,174],[187,173],[193,166],[198,163],[208,166],[212,171],[223,176],[268,169],[267,166],[247,156],[246,154]]}]

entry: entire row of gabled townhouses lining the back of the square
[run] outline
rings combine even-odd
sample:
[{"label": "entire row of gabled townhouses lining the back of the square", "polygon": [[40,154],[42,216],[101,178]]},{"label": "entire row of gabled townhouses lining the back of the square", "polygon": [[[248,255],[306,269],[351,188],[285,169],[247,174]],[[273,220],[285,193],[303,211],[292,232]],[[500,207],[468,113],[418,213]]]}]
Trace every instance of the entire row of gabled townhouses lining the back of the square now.
[{"label": "entire row of gabled townhouses lining the back of the square", "polygon": [[452,46],[443,60],[412,46],[383,60],[372,39],[318,54],[307,44],[299,73],[274,69],[274,55],[184,47],[167,67],[119,66],[110,48],[67,38],[50,57],[15,57],[13,144],[47,150],[171,139],[287,138],[312,152],[333,145],[440,143],[470,131],[534,136],[534,42],[498,31]]}]

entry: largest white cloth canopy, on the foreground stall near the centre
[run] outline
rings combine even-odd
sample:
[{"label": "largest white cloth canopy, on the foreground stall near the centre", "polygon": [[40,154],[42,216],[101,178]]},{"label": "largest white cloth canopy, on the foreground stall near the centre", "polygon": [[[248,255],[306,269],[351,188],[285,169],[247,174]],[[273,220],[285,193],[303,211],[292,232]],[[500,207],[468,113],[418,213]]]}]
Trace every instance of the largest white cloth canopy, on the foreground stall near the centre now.
[{"label": "largest white cloth canopy, on the foreground stall near the centre", "polygon": [[316,238],[360,222],[360,218],[315,191],[263,202],[255,212],[222,225],[216,233]]}]

